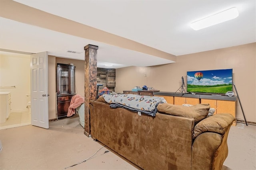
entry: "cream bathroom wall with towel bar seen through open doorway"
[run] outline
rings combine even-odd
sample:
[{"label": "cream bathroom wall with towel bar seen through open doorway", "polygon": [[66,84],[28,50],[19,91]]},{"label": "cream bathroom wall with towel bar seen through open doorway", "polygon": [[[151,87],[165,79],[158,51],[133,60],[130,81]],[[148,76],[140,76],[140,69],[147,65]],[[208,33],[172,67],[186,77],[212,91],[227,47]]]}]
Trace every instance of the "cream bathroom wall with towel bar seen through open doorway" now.
[{"label": "cream bathroom wall with towel bar seen through open doorway", "polygon": [[0,53],[0,92],[11,92],[11,112],[28,111],[26,94],[30,94],[30,55]]}]

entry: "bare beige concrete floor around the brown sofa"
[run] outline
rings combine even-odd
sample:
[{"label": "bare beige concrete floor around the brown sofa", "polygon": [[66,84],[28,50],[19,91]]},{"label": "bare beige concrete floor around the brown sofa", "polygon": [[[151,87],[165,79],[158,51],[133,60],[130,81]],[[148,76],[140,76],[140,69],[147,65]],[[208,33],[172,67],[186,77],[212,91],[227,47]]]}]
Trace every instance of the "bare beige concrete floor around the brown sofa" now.
[{"label": "bare beige concrete floor around the brown sofa", "polygon": [[[49,123],[49,129],[26,125],[0,130],[3,145],[0,152],[0,169],[140,169],[107,147],[103,147],[101,143],[93,141],[91,137],[86,137],[78,120],[79,117],[74,116],[52,121]],[[228,158],[222,170],[256,169],[255,125],[237,123],[236,127],[231,127],[228,147]],[[108,150],[110,152],[106,152]],[[82,162],[87,158],[89,159],[86,162]],[[79,162],[82,163],[72,166]]]}]

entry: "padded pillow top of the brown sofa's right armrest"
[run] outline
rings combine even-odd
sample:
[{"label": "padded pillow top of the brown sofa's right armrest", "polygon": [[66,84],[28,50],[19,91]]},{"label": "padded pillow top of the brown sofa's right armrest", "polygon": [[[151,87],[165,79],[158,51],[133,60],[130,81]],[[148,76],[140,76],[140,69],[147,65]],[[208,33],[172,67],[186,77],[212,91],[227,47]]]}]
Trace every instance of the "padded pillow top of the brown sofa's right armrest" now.
[{"label": "padded pillow top of the brown sofa's right armrest", "polygon": [[228,113],[219,113],[209,116],[196,124],[193,139],[204,132],[215,132],[224,135],[226,129],[234,120],[234,116]]}]

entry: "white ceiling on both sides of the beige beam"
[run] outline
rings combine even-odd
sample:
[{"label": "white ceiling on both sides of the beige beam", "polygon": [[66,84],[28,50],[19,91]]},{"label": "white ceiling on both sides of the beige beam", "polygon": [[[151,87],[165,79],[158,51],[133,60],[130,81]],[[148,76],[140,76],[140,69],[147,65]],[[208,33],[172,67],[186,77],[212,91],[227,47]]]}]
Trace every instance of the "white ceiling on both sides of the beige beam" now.
[{"label": "white ceiling on both sides of the beige beam", "polygon": [[[256,42],[255,0],[16,0],[16,2],[175,56]],[[194,21],[232,7],[238,8],[239,11],[238,18],[234,20],[198,31],[194,31],[189,26]],[[84,46],[87,44],[99,46],[98,67],[102,68],[105,67],[104,63],[114,63],[112,68],[121,68],[175,62],[161,56],[0,18],[1,49],[29,53],[48,51],[49,55],[83,60]],[[66,51],[76,51],[80,54]]]}]

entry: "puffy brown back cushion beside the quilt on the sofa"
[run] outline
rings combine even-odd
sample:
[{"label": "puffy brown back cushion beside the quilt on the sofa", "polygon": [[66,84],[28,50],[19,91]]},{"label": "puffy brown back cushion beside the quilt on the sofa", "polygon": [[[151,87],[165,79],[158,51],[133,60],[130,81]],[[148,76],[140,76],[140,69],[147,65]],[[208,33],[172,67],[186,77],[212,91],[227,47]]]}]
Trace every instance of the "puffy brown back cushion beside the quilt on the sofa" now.
[{"label": "puffy brown back cushion beside the quilt on the sofa", "polygon": [[207,117],[210,105],[197,104],[190,107],[186,107],[181,105],[164,103],[158,104],[157,109],[159,113],[194,118],[196,124]]}]

